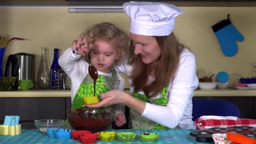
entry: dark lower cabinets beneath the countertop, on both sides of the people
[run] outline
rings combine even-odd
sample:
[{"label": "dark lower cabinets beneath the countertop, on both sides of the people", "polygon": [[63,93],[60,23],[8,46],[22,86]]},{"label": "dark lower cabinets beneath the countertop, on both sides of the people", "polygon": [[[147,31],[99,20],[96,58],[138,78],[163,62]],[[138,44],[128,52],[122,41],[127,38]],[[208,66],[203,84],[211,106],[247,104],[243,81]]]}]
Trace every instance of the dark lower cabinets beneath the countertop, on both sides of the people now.
[{"label": "dark lower cabinets beneath the countertop, on both sides of the people", "polygon": [[[240,109],[241,118],[256,119],[256,97],[194,97],[193,99],[212,99],[229,101]],[[34,121],[41,119],[66,120],[67,109],[71,109],[71,98],[0,98],[0,124],[5,115],[19,115],[22,128],[34,129]],[[126,107],[126,118],[129,110]],[[127,129],[128,123],[115,129]]]}]

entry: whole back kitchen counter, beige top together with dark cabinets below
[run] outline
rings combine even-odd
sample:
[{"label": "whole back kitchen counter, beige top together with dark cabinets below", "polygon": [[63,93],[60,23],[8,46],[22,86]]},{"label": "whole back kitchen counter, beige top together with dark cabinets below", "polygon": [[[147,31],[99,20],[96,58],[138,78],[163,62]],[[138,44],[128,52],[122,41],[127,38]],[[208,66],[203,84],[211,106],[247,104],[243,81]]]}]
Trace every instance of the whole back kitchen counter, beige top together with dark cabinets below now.
[{"label": "whole back kitchen counter, beige top together with dark cabinets below", "polygon": [[[34,120],[65,120],[72,107],[70,96],[70,90],[0,91],[0,122],[5,115],[19,115],[22,128],[33,129]],[[241,118],[256,119],[256,90],[197,89],[193,99],[228,101],[240,109]]]}]

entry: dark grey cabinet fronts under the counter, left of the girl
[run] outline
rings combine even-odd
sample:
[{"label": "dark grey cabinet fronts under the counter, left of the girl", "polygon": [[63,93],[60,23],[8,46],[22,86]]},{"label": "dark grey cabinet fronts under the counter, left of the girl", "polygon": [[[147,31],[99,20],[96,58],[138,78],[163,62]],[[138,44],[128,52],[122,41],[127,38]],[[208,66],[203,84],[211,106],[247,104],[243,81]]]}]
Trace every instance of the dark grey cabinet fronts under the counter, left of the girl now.
[{"label": "dark grey cabinet fronts under the counter, left of the girl", "polygon": [[35,128],[34,121],[65,120],[66,98],[1,98],[0,124],[5,115],[19,115],[22,128]]}]

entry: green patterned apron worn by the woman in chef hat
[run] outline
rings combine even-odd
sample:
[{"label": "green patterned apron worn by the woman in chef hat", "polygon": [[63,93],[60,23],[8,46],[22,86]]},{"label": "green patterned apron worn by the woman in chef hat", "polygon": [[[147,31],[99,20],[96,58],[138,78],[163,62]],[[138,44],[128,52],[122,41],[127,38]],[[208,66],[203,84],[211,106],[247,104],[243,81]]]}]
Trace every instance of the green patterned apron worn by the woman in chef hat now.
[{"label": "green patterned apron worn by the woman in chef hat", "polygon": [[[168,103],[168,97],[166,96],[166,93],[167,87],[164,87],[160,93],[160,95],[162,96],[161,98],[149,99],[146,95],[135,92],[132,93],[132,96],[140,99],[141,101],[145,101],[151,104],[166,106],[166,104]],[[146,117],[139,115],[139,113],[133,111],[132,109],[130,109],[129,119],[130,127],[132,129],[170,129],[166,126],[155,123],[152,120],[149,120]],[[179,125],[176,128],[179,128]]]}]

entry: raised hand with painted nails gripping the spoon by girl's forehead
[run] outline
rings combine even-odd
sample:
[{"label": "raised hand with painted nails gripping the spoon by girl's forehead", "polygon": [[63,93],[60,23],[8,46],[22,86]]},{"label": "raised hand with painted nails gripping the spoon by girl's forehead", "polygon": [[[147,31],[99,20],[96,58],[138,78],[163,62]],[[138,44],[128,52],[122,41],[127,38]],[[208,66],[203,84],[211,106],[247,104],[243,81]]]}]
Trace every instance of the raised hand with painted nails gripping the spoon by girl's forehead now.
[{"label": "raised hand with painted nails gripping the spoon by girl's forehead", "polygon": [[82,57],[85,56],[85,53],[88,53],[88,51],[90,51],[90,48],[92,47],[92,44],[88,45],[87,41],[87,36],[83,38],[80,37],[77,40],[74,40],[72,43],[73,53],[76,52],[78,55],[81,55]]}]

